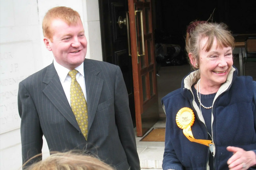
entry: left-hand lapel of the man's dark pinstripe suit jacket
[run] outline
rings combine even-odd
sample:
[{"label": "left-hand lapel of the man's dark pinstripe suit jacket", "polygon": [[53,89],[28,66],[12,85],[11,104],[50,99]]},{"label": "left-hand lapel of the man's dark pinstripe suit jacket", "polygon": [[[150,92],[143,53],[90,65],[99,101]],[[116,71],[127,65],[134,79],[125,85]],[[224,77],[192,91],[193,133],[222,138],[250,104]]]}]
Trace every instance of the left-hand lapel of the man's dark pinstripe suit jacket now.
[{"label": "left-hand lapel of the man's dark pinstripe suit jacket", "polygon": [[[76,118],[73,114],[73,111],[67,100],[67,96],[62,88],[58,74],[54,68],[53,63],[49,65],[44,83],[48,84],[43,90],[47,98],[52,102],[52,104],[59,110],[59,112],[73,125],[78,131],[81,131]],[[50,108],[49,108],[50,109]],[[63,125],[65,126],[65,125]]]}]

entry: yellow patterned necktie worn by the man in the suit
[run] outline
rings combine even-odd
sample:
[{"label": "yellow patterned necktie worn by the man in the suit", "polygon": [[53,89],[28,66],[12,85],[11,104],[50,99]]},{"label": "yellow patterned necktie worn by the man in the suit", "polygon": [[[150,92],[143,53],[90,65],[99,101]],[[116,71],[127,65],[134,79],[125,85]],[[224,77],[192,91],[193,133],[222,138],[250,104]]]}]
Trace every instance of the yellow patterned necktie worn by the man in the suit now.
[{"label": "yellow patterned necktie worn by the man in the suit", "polygon": [[84,99],[84,95],[81,86],[76,81],[77,70],[73,69],[69,71],[71,77],[70,86],[70,103],[72,111],[76,117],[79,128],[82,131],[84,138],[87,140],[88,135],[88,114],[87,114],[87,102]]}]

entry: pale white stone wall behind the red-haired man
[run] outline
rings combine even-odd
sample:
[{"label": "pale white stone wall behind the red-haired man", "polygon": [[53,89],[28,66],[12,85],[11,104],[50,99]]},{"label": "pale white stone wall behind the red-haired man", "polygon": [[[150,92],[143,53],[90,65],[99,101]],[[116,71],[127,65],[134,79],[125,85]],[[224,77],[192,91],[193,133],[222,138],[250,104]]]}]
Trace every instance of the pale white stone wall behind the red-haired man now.
[{"label": "pale white stone wall behind the red-haired man", "polygon": [[[22,166],[18,83],[53,61],[42,41],[41,22],[56,6],[79,12],[88,40],[87,58],[102,61],[98,1],[0,0],[0,169]],[[42,153],[43,158],[49,155],[46,140]]]}]

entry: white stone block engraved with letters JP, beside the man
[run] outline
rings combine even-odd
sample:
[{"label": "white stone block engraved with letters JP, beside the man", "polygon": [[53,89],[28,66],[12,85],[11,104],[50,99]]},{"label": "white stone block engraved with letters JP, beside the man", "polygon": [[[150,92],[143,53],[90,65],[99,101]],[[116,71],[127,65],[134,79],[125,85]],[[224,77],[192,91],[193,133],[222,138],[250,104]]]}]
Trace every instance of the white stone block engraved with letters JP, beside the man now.
[{"label": "white stone block engraved with letters JP, beside the man", "polygon": [[0,46],[0,134],[20,127],[17,108],[18,84],[35,72],[32,41]]}]

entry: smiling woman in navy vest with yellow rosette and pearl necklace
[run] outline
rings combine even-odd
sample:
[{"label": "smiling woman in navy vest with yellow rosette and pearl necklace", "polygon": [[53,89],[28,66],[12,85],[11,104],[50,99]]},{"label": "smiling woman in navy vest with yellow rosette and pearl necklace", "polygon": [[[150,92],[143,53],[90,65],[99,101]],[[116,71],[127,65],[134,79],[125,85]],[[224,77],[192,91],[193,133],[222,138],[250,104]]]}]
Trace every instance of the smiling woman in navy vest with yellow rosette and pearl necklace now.
[{"label": "smiling woman in navy vest with yellow rosette and pearl necklace", "polygon": [[255,168],[256,82],[237,76],[233,48],[224,23],[188,26],[186,51],[195,70],[162,99],[163,170]]}]

